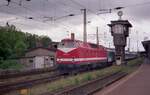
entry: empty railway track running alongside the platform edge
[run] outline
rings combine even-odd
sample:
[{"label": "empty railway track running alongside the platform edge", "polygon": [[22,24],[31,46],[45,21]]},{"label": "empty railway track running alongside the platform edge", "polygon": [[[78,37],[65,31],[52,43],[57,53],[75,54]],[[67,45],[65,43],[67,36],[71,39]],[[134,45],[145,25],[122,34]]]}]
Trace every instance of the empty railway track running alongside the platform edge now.
[{"label": "empty railway track running alongside the platform edge", "polygon": [[94,92],[106,87],[107,85],[121,79],[126,76],[127,73],[117,72],[103,78],[99,78],[87,83],[71,87],[56,93],[44,93],[42,95],[92,95]]}]

